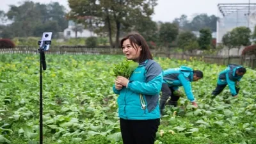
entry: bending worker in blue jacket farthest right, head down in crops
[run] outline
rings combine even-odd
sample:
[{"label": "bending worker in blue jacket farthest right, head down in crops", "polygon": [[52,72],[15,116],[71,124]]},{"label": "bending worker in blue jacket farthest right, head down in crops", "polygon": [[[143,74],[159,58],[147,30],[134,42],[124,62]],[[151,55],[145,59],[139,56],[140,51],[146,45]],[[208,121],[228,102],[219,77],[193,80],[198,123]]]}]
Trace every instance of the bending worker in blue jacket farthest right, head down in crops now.
[{"label": "bending worker in blue jacket farthest right, head down in crops", "polygon": [[246,68],[241,65],[228,65],[228,67],[220,72],[218,82],[215,90],[212,92],[212,98],[220,94],[223,89],[228,85],[230,93],[233,97],[237,97],[239,88],[239,81],[246,73]]}]

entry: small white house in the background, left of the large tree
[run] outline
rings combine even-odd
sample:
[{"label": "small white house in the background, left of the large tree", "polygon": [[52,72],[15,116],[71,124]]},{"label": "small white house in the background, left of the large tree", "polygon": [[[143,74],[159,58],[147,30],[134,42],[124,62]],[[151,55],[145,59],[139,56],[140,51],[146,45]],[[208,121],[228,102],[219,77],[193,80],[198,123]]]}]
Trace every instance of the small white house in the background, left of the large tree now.
[{"label": "small white house in the background, left of the large tree", "polygon": [[[81,24],[77,24],[77,26],[83,26]],[[75,22],[73,22],[72,20],[68,21],[68,28],[64,29],[63,31],[63,35],[64,38],[87,38],[90,36],[97,36],[97,34],[93,33],[93,31],[90,31],[89,29],[83,29],[82,31],[74,31],[74,28],[76,27]],[[84,27],[84,26],[83,26]]]}]

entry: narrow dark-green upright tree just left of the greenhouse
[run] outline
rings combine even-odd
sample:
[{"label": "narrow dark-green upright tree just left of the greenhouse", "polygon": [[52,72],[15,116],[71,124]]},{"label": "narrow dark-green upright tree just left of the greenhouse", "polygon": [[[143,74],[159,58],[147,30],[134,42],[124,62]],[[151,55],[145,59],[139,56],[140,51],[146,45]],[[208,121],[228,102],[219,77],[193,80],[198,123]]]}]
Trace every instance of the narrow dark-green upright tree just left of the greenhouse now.
[{"label": "narrow dark-green upright tree just left of the greenhouse", "polygon": [[209,28],[201,29],[200,36],[198,38],[198,44],[200,45],[200,49],[209,49],[212,41],[212,32]]}]

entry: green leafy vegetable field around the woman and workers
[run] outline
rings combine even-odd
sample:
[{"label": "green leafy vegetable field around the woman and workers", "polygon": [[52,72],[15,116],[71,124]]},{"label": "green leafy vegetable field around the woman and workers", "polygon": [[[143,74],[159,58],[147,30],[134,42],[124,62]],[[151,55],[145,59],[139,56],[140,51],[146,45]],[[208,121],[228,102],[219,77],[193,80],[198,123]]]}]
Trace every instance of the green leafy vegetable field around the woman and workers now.
[{"label": "green leafy vegetable field around the woman and workers", "polygon": [[[122,143],[117,95],[112,90],[113,68],[122,60],[124,56],[46,55],[44,143]],[[247,68],[237,99],[228,87],[211,99],[225,66],[193,58],[155,60],[164,70],[187,65],[204,72],[203,79],[192,83],[198,108],[186,97],[177,108],[166,106],[157,144],[256,143],[255,70]],[[0,102],[0,143],[38,143],[39,54],[1,54]]]}]

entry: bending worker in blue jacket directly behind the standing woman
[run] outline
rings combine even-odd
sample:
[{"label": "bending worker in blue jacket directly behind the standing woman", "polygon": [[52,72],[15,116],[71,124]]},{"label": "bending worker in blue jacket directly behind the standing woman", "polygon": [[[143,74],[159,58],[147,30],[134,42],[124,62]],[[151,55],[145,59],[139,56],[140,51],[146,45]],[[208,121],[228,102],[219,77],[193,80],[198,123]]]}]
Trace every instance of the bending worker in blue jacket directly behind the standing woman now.
[{"label": "bending worker in blue jacket directly behind the standing woman", "polygon": [[177,106],[177,101],[180,96],[175,95],[174,92],[179,93],[179,86],[183,86],[188,99],[197,108],[194,95],[191,90],[191,82],[202,79],[203,72],[200,70],[193,70],[190,67],[181,66],[179,68],[170,68],[164,70],[163,84],[162,84],[162,97],[160,100],[160,111],[163,113],[164,106],[169,97],[168,104]]}]

